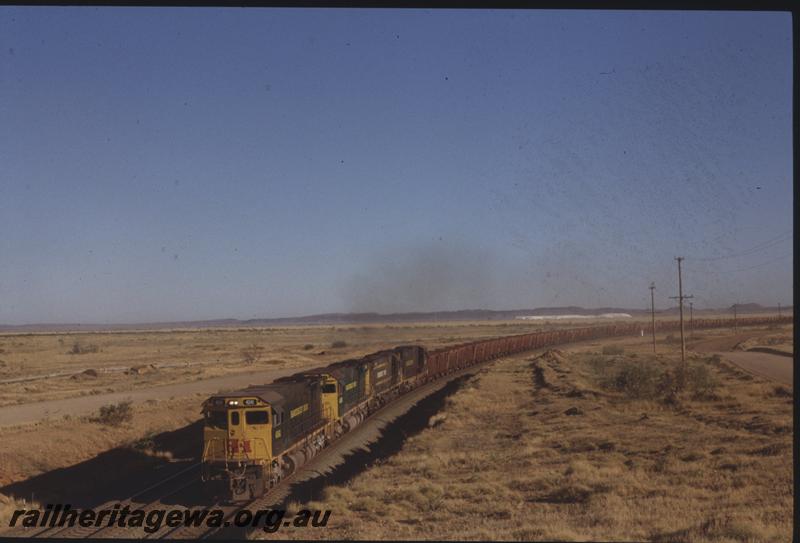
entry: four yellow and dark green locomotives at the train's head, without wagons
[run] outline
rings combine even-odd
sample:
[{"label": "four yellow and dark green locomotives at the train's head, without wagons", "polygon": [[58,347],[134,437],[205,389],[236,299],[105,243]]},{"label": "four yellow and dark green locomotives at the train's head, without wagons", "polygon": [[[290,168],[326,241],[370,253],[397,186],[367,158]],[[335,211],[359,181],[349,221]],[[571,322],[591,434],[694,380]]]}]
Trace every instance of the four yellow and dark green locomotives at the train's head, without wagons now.
[{"label": "four yellow and dark green locomotives at the train's head, without wagons", "polygon": [[217,394],[203,403],[203,480],[231,501],[262,495],[424,382],[426,353],[404,346]]}]

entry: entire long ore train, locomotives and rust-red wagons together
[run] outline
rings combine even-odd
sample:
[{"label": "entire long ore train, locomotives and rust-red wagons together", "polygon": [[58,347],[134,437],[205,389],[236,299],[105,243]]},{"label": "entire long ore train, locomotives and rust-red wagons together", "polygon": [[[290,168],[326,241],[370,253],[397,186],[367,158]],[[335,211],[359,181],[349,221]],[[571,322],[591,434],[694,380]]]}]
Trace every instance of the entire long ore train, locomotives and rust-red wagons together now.
[{"label": "entire long ore train, locomotives and rust-red wagons together", "polygon": [[[738,319],[739,326],[792,322],[792,317]],[[698,319],[694,329],[732,326]],[[649,323],[540,331],[426,350],[401,346],[218,394],[203,403],[203,481],[227,501],[261,496],[342,434],[401,394],[501,356],[601,337],[638,335]],[[675,321],[656,331],[675,330]]]}]

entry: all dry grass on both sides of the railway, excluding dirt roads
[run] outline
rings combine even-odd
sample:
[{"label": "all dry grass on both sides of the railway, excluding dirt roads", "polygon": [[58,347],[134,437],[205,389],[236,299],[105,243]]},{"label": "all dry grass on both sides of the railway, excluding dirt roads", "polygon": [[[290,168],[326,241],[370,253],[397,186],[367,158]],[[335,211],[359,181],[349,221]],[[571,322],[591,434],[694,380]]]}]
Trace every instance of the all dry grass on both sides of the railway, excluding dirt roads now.
[{"label": "all dry grass on both sides of the railway, excluding dirt roads", "polygon": [[[0,335],[0,379],[97,369],[76,379],[0,385],[0,405],[265,367],[321,365],[402,343],[437,347],[542,326],[498,322]],[[98,352],[66,354],[78,339],[97,345]],[[325,349],[336,340],[347,347],[324,354],[307,347]],[[609,364],[636,363],[649,348],[647,338],[613,343],[624,348],[624,355],[604,357]],[[252,346],[264,350],[258,351],[259,361],[247,363],[242,350]],[[679,403],[667,405],[607,388],[608,372],[598,372],[591,362],[602,357],[602,347],[584,344],[535,365],[522,356],[497,362],[453,396],[400,454],[348,485],[329,488],[324,504],[312,504],[333,510],[328,528],[278,534],[787,540],[791,389],[722,361],[698,359],[695,363],[718,381],[714,394],[696,398],[686,392]],[[660,346],[666,353],[659,363],[669,367],[676,349]],[[186,363],[192,365],[180,365]],[[141,370],[151,365],[155,371]],[[132,367],[140,369],[123,372]],[[114,368],[120,371],[103,371]],[[195,421],[202,396],[135,405],[134,424],[119,427],[84,417],[6,428],[0,440],[0,485],[124,444],[148,450],[148,435]]]}]

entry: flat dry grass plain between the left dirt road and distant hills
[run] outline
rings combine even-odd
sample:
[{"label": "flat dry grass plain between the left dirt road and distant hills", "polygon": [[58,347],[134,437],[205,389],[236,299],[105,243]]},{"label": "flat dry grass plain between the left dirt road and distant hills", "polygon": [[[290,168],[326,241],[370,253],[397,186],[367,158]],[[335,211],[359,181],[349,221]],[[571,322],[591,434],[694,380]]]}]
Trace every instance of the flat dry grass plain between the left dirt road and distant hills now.
[{"label": "flat dry grass plain between the left dirt road and distant hills", "polygon": [[[403,343],[438,347],[546,326],[499,321],[0,334],[0,406],[318,366]],[[34,379],[2,382],[28,377]]]}]

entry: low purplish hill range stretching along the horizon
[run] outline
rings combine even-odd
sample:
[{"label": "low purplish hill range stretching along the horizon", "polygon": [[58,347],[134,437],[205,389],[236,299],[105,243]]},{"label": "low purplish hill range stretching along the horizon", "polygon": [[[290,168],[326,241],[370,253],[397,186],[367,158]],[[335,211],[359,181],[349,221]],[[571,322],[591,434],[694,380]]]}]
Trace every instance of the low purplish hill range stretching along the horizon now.
[{"label": "low purplish hill range stretching along the horizon", "polygon": [[[781,308],[785,314],[790,314],[791,306]],[[759,304],[737,304],[739,314],[745,313],[776,313],[777,307],[764,307]],[[684,311],[688,307],[684,306]],[[414,313],[323,313],[303,317],[282,317],[272,319],[214,319],[201,321],[175,321],[175,322],[150,322],[132,324],[0,324],[0,332],[67,332],[67,331],[111,331],[111,330],[167,330],[175,328],[250,328],[257,326],[281,325],[314,325],[314,324],[370,324],[390,322],[431,322],[431,321],[481,321],[481,320],[511,320],[522,316],[546,315],[601,315],[603,313],[628,313],[634,318],[650,315],[649,309],[627,309],[621,307],[584,308],[580,306],[565,307],[537,307],[534,309],[462,309],[459,311],[433,311]],[[695,309],[695,315],[711,313],[733,314],[733,306],[726,309]],[[678,308],[656,310],[657,315],[677,315]]]}]

